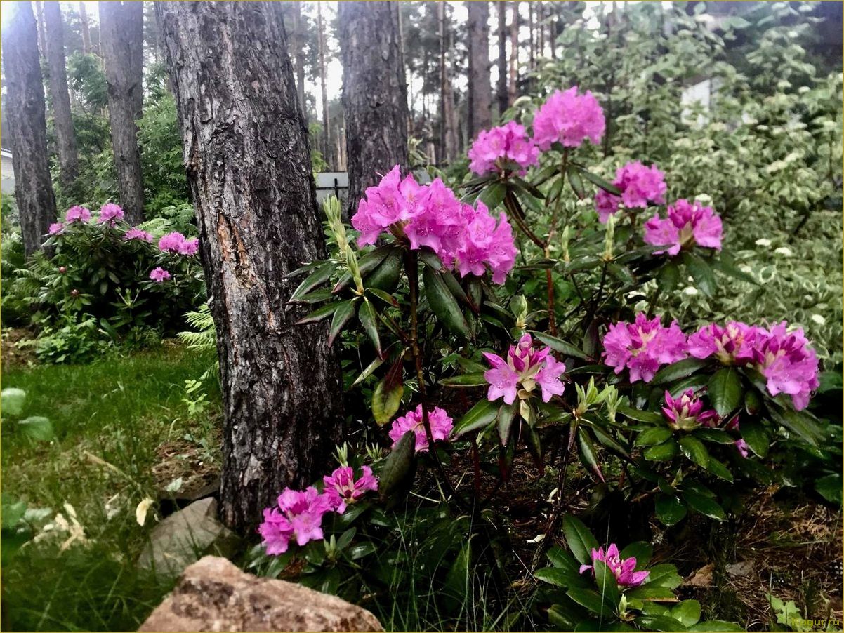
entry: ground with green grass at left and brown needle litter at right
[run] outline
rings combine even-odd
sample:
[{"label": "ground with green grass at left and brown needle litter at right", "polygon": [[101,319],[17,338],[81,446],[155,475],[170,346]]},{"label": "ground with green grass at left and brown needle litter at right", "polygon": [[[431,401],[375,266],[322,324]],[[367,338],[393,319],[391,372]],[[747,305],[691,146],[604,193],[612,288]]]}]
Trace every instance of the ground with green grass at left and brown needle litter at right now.
[{"label": "ground with green grass at left and brown needle litter at right", "polygon": [[[135,567],[158,518],[138,525],[138,503],[180,479],[180,490],[192,490],[219,473],[219,392],[210,390],[197,412],[184,391],[209,360],[170,343],[91,365],[33,365],[7,351],[4,345],[3,387],[25,389],[26,414],[50,418],[57,439],[35,443],[3,425],[3,495],[66,517],[70,506],[82,529],[65,549],[73,530],[4,558],[3,630],[134,630],[170,590]],[[512,579],[526,576],[556,476],[553,468],[539,475],[520,457],[511,484],[495,495],[517,555]],[[611,495],[590,513],[592,488],[587,473],[572,468],[569,508],[619,542],[651,538],[655,560],[678,565],[681,597],[700,600],[707,618],[771,630],[773,595],[793,601],[803,617],[842,619],[840,510],[772,487],[755,490],[730,522],[690,517],[666,530],[630,515]],[[517,590],[529,592],[529,584]],[[532,619],[544,621],[541,613]]]}]

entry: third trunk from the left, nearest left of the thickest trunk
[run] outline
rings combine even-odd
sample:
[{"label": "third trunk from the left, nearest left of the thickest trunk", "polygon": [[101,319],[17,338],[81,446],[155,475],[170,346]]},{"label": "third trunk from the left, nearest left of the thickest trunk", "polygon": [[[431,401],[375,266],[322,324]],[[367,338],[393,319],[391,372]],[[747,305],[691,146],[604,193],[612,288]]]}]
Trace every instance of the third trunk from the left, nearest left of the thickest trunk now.
[{"label": "third trunk from the left, nearest left of the thickest trunk", "polygon": [[[143,3],[100,0],[100,43],[106,64],[111,148],[117,171],[120,203],[132,224],[143,222],[143,180],[136,116],[140,115],[143,86],[137,73],[138,11]],[[143,42],[143,6],[141,7]]]}]

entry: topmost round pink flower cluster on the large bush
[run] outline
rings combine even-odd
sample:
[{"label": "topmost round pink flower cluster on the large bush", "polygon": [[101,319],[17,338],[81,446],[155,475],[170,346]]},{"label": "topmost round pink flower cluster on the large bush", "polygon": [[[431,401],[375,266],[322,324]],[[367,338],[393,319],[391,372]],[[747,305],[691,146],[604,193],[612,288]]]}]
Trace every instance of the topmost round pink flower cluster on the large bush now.
[{"label": "topmost round pink flower cluster on the large bush", "polygon": [[588,138],[599,143],[606,122],[598,100],[587,90],[578,95],[577,86],[556,90],[533,116],[533,140],[545,151],[554,143],[578,147]]}]

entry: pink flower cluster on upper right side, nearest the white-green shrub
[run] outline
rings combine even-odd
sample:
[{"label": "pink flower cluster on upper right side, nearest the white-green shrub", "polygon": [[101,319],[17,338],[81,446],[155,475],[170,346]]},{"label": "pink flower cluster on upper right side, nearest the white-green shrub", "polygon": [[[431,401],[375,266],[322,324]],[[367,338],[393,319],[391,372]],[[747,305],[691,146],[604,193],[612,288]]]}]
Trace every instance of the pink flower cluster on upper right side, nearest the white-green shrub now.
[{"label": "pink flower cluster on upper right side, nearest the white-green shrub", "polygon": [[653,246],[669,246],[668,255],[676,255],[681,248],[704,246],[721,250],[721,218],[711,207],[702,207],[688,200],[678,200],[668,207],[668,218],[659,214],[645,223],[645,243]]}]

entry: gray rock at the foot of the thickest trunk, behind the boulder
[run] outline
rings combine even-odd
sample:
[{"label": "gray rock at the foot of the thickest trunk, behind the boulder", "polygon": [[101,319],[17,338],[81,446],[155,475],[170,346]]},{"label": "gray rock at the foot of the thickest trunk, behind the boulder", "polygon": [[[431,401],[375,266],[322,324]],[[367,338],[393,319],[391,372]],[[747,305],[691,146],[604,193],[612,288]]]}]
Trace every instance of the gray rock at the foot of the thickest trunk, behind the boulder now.
[{"label": "gray rock at the foot of the thickest trunk, behind the boulder", "polygon": [[217,520],[217,500],[194,501],[165,518],[149,533],[138,567],[175,578],[206,554],[231,555],[238,538]]}]

